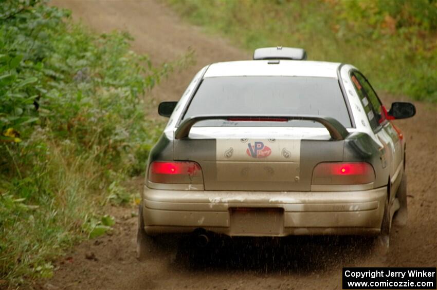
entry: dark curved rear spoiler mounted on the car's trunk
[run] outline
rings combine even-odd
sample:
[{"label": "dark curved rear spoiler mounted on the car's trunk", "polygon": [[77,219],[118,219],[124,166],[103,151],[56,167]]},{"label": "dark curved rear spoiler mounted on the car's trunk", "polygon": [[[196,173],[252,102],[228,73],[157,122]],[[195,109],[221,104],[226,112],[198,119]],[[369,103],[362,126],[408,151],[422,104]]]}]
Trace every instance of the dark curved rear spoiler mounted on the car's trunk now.
[{"label": "dark curved rear spoiler mounted on the car's trunk", "polygon": [[[349,132],[344,128],[344,126],[338,122],[336,119],[331,117],[322,117],[314,115],[297,115],[297,116],[284,116],[284,115],[201,115],[196,117],[190,117],[184,122],[179,124],[179,127],[174,132],[175,139],[187,138],[190,134],[191,127],[197,122],[205,120],[228,120],[228,119],[238,119],[239,121],[272,121],[278,119],[289,120],[303,120],[303,121],[314,121],[322,124],[329,131],[331,138],[333,140],[344,140],[348,137]],[[257,120],[259,119],[259,120]]]}]

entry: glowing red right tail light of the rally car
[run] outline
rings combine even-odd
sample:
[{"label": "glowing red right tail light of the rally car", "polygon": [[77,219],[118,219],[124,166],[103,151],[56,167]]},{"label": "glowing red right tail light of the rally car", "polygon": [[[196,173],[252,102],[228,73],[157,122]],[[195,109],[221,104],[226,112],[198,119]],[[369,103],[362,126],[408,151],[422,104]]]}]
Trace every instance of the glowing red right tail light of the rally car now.
[{"label": "glowing red right tail light of the rally car", "polygon": [[313,171],[314,185],[366,184],[374,180],[375,171],[366,162],[323,162]]}]

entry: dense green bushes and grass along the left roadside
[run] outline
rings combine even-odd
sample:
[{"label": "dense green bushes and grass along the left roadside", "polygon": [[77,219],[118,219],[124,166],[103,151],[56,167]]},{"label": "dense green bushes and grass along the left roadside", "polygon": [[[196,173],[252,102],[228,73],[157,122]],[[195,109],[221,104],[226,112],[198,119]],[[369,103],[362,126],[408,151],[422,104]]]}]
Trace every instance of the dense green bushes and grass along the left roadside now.
[{"label": "dense green bushes and grass along the left roadside", "polygon": [[0,287],[49,277],[80,239],[111,229],[108,203],[144,170],[162,123],[142,96],[192,54],[152,67],[132,37],[97,35],[35,0],[0,5]]}]

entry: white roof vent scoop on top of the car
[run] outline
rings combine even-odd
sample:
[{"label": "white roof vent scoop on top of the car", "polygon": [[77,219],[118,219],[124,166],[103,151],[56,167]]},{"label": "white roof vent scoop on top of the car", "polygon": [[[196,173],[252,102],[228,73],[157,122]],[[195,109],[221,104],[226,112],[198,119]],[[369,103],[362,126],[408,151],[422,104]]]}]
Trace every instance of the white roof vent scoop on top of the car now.
[{"label": "white roof vent scoop on top of the car", "polygon": [[306,51],[295,47],[263,47],[253,52],[253,60],[306,60]]}]

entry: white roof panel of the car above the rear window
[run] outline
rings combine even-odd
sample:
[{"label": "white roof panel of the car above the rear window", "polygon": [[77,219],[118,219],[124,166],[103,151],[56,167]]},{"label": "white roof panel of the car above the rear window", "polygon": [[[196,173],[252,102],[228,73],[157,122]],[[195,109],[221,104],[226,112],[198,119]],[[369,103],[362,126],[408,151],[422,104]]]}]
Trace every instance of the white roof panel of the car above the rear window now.
[{"label": "white roof panel of the car above the rear window", "polygon": [[336,78],[341,63],[291,61],[291,60],[256,60],[235,61],[211,64],[204,78],[217,76],[315,76]]}]

